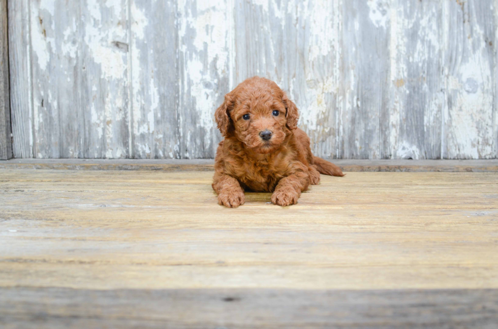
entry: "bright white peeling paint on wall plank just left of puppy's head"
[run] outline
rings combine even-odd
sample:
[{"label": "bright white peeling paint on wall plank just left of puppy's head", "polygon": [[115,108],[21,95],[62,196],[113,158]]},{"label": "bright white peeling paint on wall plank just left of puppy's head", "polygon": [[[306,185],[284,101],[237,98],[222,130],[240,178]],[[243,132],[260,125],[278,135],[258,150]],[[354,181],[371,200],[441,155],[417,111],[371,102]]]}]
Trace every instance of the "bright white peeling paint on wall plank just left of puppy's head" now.
[{"label": "bright white peeling paint on wall plank just left of puppy's head", "polygon": [[[196,6],[195,15],[192,7]],[[216,89],[219,77],[227,77],[230,81],[231,68],[230,47],[232,41],[228,40],[229,25],[226,21],[227,3],[210,1],[178,1],[179,13],[179,51],[184,58],[184,79],[182,81],[182,92],[188,93],[195,101],[197,113],[196,122],[198,127],[205,131],[204,144],[211,143],[214,132],[214,111],[220,101],[220,95]],[[186,44],[192,40],[192,46]],[[189,140],[189,135],[186,139]],[[180,129],[180,136],[183,131]],[[185,137],[185,136],[183,136]],[[199,141],[200,143],[200,141]],[[190,157],[190,152],[185,154]]]}]

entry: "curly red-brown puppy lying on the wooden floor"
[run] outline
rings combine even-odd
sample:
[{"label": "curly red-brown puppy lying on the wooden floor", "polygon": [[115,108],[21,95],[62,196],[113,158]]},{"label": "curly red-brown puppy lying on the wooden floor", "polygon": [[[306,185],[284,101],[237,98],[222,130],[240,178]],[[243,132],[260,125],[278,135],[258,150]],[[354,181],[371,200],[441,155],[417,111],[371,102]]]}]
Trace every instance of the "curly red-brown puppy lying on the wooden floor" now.
[{"label": "curly red-brown puppy lying on the wooden floor", "polygon": [[268,79],[245,80],[216,109],[225,137],[216,151],[213,190],[218,203],[236,208],[244,191],[272,192],[271,202],[296,204],[320,173],[344,176],[339,167],[313,156],[309,137],[297,128],[296,105]]}]

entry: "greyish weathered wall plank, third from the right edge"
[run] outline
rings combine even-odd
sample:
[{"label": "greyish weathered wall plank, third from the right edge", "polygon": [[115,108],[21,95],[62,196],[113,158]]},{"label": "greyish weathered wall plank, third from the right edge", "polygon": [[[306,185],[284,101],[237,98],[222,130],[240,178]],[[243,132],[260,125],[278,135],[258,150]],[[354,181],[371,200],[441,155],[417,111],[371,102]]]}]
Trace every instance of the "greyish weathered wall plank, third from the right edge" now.
[{"label": "greyish weathered wall plank, third from the right edge", "polygon": [[339,158],[390,158],[390,6],[345,1],[342,15]]}]

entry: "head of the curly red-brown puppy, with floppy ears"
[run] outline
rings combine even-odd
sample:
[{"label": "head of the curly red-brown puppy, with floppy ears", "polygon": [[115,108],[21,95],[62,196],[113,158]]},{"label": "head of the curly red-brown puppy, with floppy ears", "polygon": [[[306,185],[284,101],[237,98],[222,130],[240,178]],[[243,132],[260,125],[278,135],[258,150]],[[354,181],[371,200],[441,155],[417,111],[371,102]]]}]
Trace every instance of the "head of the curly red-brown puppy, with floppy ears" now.
[{"label": "head of the curly red-brown puppy, with floppy ears", "polygon": [[297,128],[296,105],[274,82],[254,77],[225,95],[214,118],[225,137],[236,137],[257,153],[277,150]]}]

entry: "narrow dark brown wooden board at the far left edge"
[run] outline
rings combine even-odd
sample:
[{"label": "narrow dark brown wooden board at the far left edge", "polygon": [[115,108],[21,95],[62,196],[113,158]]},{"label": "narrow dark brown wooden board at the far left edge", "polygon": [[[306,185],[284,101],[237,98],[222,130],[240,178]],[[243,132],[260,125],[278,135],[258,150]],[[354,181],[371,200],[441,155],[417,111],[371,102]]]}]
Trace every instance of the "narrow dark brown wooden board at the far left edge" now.
[{"label": "narrow dark brown wooden board at the far left edge", "polygon": [[7,0],[0,0],[0,160],[12,158]]}]

